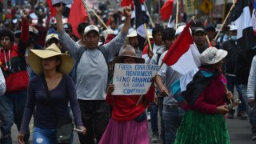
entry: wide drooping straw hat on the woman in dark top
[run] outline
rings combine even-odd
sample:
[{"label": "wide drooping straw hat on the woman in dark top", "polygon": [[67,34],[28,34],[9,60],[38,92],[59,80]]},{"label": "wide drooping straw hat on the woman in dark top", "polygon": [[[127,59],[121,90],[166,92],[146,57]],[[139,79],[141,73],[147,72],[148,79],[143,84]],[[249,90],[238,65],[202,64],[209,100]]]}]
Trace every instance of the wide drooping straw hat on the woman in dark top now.
[{"label": "wide drooping straw hat on the woman in dark top", "polygon": [[28,54],[28,60],[30,63],[31,69],[35,74],[42,74],[42,58],[50,58],[54,56],[60,56],[62,63],[59,66],[59,71],[62,74],[70,74],[74,66],[74,59],[67,54],[62,54],[56,44],[51,44],[46,48],[46,50],[30,50]]}]

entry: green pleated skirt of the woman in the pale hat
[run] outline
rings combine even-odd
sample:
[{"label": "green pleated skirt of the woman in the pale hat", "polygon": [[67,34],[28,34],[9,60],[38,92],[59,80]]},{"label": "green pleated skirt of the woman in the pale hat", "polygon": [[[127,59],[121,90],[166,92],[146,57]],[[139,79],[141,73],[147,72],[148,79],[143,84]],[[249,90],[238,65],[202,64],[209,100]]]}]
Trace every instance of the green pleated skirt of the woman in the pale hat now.
[{"label": "green pleated skirt of the woman in the pale hat", "polygon": [[226,121],[221,114],[187,110],[178,128],[175,144],[230,144]]}]

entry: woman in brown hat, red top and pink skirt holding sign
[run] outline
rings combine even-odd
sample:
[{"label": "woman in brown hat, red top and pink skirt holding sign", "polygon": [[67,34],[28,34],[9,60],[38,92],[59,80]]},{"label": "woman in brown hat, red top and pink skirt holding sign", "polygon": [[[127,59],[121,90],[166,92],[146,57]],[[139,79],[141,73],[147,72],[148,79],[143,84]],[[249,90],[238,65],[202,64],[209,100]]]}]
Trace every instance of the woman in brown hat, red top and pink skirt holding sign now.
[{"label": "woman in brown hat, red top and pink skirt holding sign", "polygon": [[[114,63],[144,63],[143,58],[136,56],[133,46],[123,46]],[[112,118],[99,144],[146,144],[150,143],[146,121],[146,106],[154,101],[154,82],[150,90],[143,95],[112,95],[118,86],[110,84],[106,101],[113,106]]]}]

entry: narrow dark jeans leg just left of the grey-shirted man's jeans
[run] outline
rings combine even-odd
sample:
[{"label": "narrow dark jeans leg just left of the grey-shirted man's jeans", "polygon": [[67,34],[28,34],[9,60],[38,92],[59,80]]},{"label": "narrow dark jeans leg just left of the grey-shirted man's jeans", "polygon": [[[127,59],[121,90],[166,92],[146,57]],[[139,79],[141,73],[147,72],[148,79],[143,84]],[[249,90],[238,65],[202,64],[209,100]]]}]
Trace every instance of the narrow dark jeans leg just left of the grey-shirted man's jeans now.
[{"label": "narrow dark jeans leg just left of the grey-shirted man's jeans", "polygon": [[165,134],[165,123],[162,120],[162,110],[163,110],[163,98],[164,97],[158,97],[158,109],[159,109],[159,115],[160,115],[160,121],[161,121],[161,133],[160,137],[162,138],[162,144],[166,143],[166,134]]}]

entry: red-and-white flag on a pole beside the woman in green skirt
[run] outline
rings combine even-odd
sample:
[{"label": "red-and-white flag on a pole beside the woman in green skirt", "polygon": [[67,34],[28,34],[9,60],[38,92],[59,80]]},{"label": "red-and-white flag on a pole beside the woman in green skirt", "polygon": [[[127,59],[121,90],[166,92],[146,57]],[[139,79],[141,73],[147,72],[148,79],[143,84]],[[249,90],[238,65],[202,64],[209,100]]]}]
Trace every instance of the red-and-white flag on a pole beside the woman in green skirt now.
[{"label": "red-and-white flag on a pole beside the woman in green skirt", "polygon": [[167,51],[162,62],[170,66],[180,74],[186,74],[201,65],[199,51],[190,34],[190,22],[186,25],[182,34]]}]

